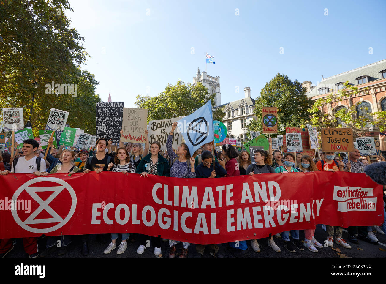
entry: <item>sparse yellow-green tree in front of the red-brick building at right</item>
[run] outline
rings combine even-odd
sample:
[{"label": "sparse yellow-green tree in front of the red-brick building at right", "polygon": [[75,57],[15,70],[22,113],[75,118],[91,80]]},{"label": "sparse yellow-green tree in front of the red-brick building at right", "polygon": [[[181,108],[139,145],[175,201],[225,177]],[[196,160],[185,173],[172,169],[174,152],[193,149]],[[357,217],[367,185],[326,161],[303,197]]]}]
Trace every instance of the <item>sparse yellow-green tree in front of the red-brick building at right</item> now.
[{"label": "sparse yellow-green tree in front of the red-brick building at right", "polygon": [[[364,93],[368,94],[368,88],[364,88]],[[344,88],[341,90],[331,92],[325,98],[321,98],[315,101],[313,106],[308,109],[308,112],[312,115],[307,123],[317,126],[318,129],[322,128],[341,128],[346,124],[347,127],[352,128],[355,137],[364,136],[365,132],[373,129],[379,129],[384,131],[384,122],[386,121],[386,111],[372,112],[367,108],[362,109],[371,116],[359,116],[356,115],[356,105],[350,106],[348,109],[341,108],[339,111],[333,110],[339,102],[343,102],[349,99],[350,96],[356,96],[359,94],[357,87],[352,86],[349,82],[344,83]],[[346,126],[345,125],[345,126]]]}]

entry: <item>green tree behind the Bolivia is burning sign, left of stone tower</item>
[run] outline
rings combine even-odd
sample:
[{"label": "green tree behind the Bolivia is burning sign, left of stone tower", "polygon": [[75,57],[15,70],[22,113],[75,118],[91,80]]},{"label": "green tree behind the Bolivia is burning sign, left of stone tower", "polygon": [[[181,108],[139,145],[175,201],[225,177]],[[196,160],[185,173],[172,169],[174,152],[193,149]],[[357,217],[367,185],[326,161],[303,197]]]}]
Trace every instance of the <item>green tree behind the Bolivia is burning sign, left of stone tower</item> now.
[{"label": "green tree behind the Bolivia is burning sign, left of stone tower", "polygon": [[[203,106],[208,100],[214,105],[215,95],[210,95],[208,89],[201,83],[187,85],[179,80],[176,85],[168,84],[164,91],[155,97],[137,95],[135,106],[147,109],[147,122],[157,119],[168,119],[178,116],[188,116]],[[222,108],[213,110],[213,120],[222,120]]]}]

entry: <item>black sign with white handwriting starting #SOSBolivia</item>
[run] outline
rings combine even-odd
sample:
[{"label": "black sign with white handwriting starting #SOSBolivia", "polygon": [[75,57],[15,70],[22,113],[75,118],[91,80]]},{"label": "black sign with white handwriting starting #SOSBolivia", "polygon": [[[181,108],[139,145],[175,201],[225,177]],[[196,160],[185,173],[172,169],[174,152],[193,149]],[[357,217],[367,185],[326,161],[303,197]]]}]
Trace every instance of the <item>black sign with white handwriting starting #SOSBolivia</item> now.
[{"label": "black sign with white handwriting starting #SOSBolivia", "polygon": [[97,135],[96,139],[107,138],[119,143],[122,129],[123,102],[97,103]]}]

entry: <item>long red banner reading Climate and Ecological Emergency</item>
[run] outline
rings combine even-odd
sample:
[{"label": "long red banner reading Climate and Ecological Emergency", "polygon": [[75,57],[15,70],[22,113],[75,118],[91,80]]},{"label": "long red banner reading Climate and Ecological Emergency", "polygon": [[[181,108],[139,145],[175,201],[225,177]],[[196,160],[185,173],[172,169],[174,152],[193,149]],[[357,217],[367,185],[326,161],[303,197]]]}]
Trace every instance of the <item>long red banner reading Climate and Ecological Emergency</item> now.
[{"label": "long red banner reading Climate and Ecological Emergency", "polygon": [[0,176],[0,182],[0,238],[143,233],[211,244],[316,224],[383,223],[383,188],[360,173],[218,179],[18,173]]}]

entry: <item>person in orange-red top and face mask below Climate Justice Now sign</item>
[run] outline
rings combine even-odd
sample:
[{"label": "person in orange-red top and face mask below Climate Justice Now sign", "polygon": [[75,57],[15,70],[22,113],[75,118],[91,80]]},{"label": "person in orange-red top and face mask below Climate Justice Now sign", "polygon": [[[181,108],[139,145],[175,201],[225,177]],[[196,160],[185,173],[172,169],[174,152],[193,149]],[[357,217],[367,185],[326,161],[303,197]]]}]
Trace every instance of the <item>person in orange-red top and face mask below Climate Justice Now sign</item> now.
[{"label": "person in orange-red top and face mask below Climate Justice Now sign", "polygon": [[[323,152],[325,159],[320,160],[316,163],[318,170],[323,171],[343,171],[344,163],[342,161],[334,161],[335,153],[334,152]],[[329,247],[334,245],[334,234],[335,234],[335,243],[339,243],[344,248],[351,248],[351,246],[342,238],[342,227],[340,226],[330,226],[326,224],[327,231],[327,243]]]}]

